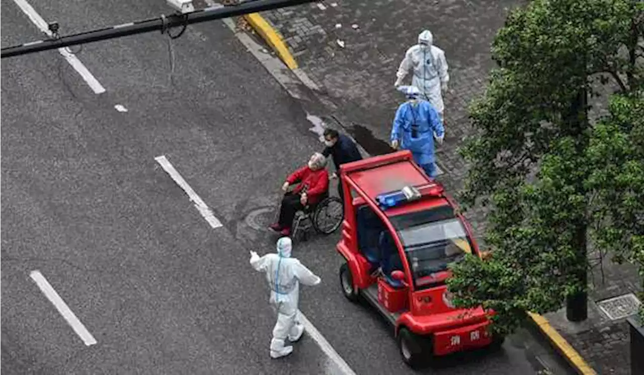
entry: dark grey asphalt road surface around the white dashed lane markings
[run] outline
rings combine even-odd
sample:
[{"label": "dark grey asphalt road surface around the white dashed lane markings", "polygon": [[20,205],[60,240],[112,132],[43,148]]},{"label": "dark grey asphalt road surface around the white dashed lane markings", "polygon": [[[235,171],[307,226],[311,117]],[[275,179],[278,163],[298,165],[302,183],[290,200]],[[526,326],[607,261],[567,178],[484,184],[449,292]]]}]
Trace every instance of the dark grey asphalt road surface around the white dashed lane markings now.
[{"label": "dark grey asphalt road surface around the white dashed lane markings", "polygon": [[[32,0],[61,33],[169,13],[162,0]],[[0,45],[42,35],[8,1]],[[71,48],[77,52],[79,48]],[[220,22],[77,53],[97,95],[57,51],[0,61],[1,374],[335,374],[309,336],[270,360],[274,316],[249,250],[285,173],[320,148],[303,107]],[[128,111],[121,112],[115,105]],[[166,156],[223,223],[211,228],[155,161]],[[296,246],[321,276],[301,310],[357,374],[411,374],[383,320],[339,291],[336,235]],[[93,335],[86,346],[30,272]],[[535,374],[556,360],[529,333],[436,374]],[[427,373],[430,373],[428,370]],[[563,373],[563,372],[560,372]]]}]

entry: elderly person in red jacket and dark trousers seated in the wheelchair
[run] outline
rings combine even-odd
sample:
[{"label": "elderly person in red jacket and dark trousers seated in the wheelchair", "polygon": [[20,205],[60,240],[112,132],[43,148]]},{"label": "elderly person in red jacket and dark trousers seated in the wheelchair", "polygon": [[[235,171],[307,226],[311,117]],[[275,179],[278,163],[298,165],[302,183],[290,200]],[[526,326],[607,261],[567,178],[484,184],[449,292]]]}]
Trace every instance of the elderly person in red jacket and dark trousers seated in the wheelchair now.
[{"label": "elderly person in red jacket and dark trousers seated in the wheelchair", "polygon": [[316,152],[308,160],[308,164],[296,170],[287,179],[282,190],[285,192],[290,185],[298,183],[292,192],[286,193],[282,198],[279,220],[270,228],[282,235],[290,235],[290,226],[295,213],[306,205],[315,205],[322,200],[323,194],[328,190],[327,158]]}]

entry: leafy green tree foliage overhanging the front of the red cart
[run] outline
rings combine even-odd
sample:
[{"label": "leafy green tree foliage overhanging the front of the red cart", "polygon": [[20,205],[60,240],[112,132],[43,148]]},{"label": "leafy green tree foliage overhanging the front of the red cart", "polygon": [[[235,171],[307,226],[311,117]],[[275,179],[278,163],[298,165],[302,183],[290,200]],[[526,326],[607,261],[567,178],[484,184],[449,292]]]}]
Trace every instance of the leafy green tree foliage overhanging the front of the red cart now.
[{"label": "leafy green tree foliage overhanging the front of the red cart", "polygon": [[[449,286],[457,305],[497,311],[503,333],[585,290],[587,237],[644,271],[642,30],[636,0],[535,0],[497,34],[498,69],[461,149],[471,165],[462,201],[489,206],[494,256],[454,265]],[[591,124],[598,80],[620,93]]]}]

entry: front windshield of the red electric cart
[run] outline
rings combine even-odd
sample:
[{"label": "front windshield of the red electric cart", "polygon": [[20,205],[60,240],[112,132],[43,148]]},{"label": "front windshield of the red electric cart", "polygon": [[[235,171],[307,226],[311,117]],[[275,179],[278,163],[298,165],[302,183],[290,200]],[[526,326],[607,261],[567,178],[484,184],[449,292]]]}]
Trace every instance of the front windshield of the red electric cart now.
[{"label": "front windshield of the red electric cart", "polygon": [[471,242],[453,208],[440,206],[392,217],[413,273],[415,288],[444,284],[448,264],[471,253]]}]

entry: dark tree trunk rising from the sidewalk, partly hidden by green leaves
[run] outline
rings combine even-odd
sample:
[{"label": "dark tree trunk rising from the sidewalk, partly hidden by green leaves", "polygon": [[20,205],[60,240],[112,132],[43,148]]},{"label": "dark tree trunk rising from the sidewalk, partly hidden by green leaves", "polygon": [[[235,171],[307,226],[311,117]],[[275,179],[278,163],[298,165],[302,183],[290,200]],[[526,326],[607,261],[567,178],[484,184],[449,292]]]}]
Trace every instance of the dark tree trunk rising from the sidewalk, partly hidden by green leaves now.
[{"label": "dark tree trunk rising from the sidewalk, partly hidden by green leaves", "polygon": [[[569,113],[569,132],[577,143],[577,152],[581,156],[587,147],[587,136],[585,131],[588,129],[588,116],[587,116],[587,89],[581,88],[571,103],[571,111]],[[577,192],[584,194],[583,181],[578,181],[576,189]],[[574,230],[573,246],[578,249],[576,265],[578,268],[574,271],[574,277],[579,283],[580,291],[569,295],[566,298],[566,318],[571,322],[582,322],[588,318],[588,270],[587,270],[587,241],[586,241],[586,212],[582,212],[576,221],[576,228]]]}]

